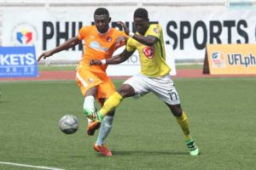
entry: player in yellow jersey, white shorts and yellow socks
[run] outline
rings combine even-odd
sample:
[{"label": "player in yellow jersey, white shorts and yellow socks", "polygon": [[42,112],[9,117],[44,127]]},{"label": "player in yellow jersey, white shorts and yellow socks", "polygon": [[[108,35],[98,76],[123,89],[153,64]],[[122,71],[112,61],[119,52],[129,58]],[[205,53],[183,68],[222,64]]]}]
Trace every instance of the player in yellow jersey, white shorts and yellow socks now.
[{"label": "player in yellow jersey, white shorts and yellow socks", "polygon": [[90,65],[119,64],[137,50],[140,56],[141,72],[126,80],[118,91],[107,99],[100,111],[88,116],[100,123],[102,118],[116,108],[122,99],[135,95],[143,96],[152,92],[170,108],[183,131],[189,154],[197,156],[199,150],[190,136],[188,117],[181,108],[180,99],[169,75],[171,68],[166,64],[162,28],[158,24],[149,25],[148,11],[145,8],[137,8],[133,19],[136,34],[120,22],[125,33],[130,35],[125,50],[112,59],[91,60]]}]

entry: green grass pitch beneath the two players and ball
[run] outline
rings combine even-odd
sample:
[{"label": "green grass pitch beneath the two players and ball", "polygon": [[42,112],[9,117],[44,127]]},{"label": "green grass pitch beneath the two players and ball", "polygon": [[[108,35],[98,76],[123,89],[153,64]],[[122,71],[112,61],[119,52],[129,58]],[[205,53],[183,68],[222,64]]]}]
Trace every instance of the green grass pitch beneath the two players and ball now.
[{"label": "green grass pitch beneath the two players and ball", "polygon": [[[85,133],[84,99],[74,81],[0,82],[0,161],[73,170],[255,169],[256,78],[174,82],[200,156],[189,156],[175,118],[153,94],[123,100],[107,139],[113,156],[103,157],[92,149],[96,135]],[[65,114],[79,118],[77,133],[61,133]]]}]

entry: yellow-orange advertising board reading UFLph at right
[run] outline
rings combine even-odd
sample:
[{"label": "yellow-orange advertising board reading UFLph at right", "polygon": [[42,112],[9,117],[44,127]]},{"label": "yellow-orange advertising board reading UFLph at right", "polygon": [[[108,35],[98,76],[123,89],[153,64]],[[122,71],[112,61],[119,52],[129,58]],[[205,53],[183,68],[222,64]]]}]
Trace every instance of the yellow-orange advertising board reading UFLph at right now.
[{"label": "yellow-orange advertising board reading UFLph at right", "polygon": [[256,74],[256,44],[207,45],[204,73]]}]

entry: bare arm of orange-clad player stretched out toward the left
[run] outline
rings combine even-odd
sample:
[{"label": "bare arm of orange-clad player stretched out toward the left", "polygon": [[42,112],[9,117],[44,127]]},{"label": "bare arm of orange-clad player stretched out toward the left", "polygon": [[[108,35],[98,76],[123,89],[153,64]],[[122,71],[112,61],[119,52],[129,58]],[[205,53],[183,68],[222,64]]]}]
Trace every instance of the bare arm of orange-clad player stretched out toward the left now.
[{"label": "bare arm of orange-clad player stretched out toward the left", "polygon": [[67,42],[62,43],[61,45],[57,46],[56,48],[53,48],[49,51],[44,52],[43,54],[39,55],[38,57],[38,62],[43,58],[46,59],[49,56],[58,53],[60,51],[63,51],[65,49],[68,48],[72,48],[73,46],[76,46],[77,44],[79,44],[79,42],[81,42],[77,37],[72,37],[69,40],[67,40]]}]

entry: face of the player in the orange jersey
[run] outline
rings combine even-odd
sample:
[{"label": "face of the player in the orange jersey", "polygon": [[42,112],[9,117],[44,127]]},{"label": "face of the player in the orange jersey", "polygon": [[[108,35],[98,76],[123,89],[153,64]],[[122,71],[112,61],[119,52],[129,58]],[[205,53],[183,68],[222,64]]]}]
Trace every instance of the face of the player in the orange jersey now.
[{"label": "face of the player in the orange jersey", "polygon": [[111,18],[109,18],[108,14],[94,15],[95,26],[101,33],[108,31],[108,24],[110,20]]}]

